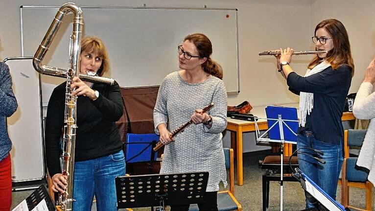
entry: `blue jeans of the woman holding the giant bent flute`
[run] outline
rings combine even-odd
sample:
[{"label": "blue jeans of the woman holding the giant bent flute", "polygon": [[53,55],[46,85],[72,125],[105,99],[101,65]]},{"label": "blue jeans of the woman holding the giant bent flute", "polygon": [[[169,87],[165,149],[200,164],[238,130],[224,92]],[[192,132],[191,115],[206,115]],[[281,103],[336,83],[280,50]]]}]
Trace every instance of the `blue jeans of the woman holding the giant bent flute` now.
[{"label": "blue jeans of the woman holding the giant bent flute", "polygon": [[115,177],[125,175],[125,158],[119,152],[89,161],[75,162],[74,211],[91,211],[94,195],[97,211],[117,211]]}]

